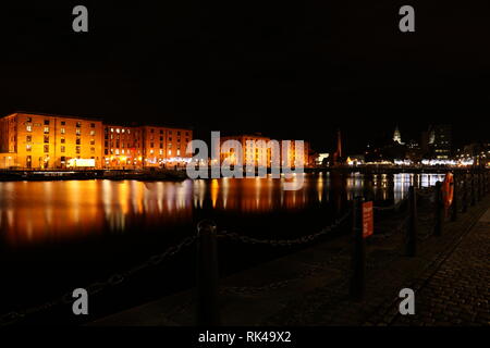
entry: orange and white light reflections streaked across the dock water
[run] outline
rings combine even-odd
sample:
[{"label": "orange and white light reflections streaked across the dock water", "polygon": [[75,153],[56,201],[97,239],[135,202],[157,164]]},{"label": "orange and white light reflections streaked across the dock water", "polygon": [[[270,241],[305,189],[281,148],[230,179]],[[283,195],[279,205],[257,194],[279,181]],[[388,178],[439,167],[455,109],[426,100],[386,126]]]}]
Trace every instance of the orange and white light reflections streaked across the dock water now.
[{"label": "orange and white light reflections streaked across the dock water", "polygon": [[[317,173],[301,190],[282,189],[282,179],[224,178],[182,183],[72,181],[0,183],[0,231],[10,246],[121,233],[137,226],[189,225],[209,209],[241,219],[334,207],[355,196],[397,202],[408,187],[434,185],[438,174]],[[240,225],[237,220],[236,224]]]}]

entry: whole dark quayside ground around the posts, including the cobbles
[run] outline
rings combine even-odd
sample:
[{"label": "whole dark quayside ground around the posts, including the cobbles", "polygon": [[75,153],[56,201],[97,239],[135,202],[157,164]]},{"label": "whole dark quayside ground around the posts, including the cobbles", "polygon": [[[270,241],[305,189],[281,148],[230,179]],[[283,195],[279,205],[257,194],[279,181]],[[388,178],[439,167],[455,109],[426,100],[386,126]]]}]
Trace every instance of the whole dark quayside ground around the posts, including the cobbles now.
[{"label": "whole dark quayside ground around the posts, including the cobbles", "polygon": [[[490,325],[490,199],[434,236],[419,216],[416,257],[405,256],[403,224],[367,239],[366,296],[348,295],[347,236],[271,261],[220,282],[223,325]],[[415,290],[415,314],[399,313],[399,293]],[[194,290],[93,325],[194,325]]]}]

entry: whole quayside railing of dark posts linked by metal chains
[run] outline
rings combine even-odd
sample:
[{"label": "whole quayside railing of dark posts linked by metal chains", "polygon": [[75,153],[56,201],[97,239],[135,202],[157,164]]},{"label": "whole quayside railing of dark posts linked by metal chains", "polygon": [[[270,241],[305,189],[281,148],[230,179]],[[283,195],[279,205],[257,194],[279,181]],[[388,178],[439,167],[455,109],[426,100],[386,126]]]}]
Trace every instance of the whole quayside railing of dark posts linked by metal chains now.
[{"label": "whole quayside railing of dark posts linked by metal chains", "polygon": [[[476,206],[485,196],[490,192],[490,173],[489,172],[471,172],[466,174],[457,174],[454,179],[454,198],[453,203],[445,209],[442,201],[441,182],[436,184],[433,188],[418,189],[414,186],[409,187],[408,197],[391,207],[375,207],[375,210],[399,211],[403,203],[407,203],[406,211],[403,212],[402,221],[391,233],[383,237],[390,237],[393,234],[405,232],[404,245],[406,257],[415,257],[417,245],[431,236],[441,236],[444,232],[444,224],[449,221],[455,222],[458,215],[468,211],[469,206]],[[365,295],[365,273],[366,273],[366,245],[360,228],[360,202],[363,197],[356,197],[352,201],[352,208],[341,217],[336,219],[330,226],[321,231],[293,239],[258,239],[236,232],[219,231],[212,221],[201,221],[197,225],[197,234],[184,238],[181,243],[166,249],[159,254],[155,254],[147,261],[133,266],[124,273],[117,273],[108,277],[105,282],[96,282],[85,287],[89,295],[95,295],[110,287],[126,282],[134,274],[139,273],[148,268],[161,264],[191,247],[197,241],[197,307],[196,322],[198,325],[219,325],[219,303],[220,294],[218,285],[218,240],[229,239],[245,245],[262,245],[274,248],[297,247],[311,245],[318,241],[320,237],[329,235],[331,232],[342,227],[345,223],[350,223],[352,229],[353,245],[346,246],[339,253],[352,250],[352,272],[348,281],[350,294],[353,300],[362,300]],[[429,217],[431,222],[431,233],[425,236],[418,234],[418,223],[421,219],[418,216],[418,203],[420,200],[427,200],[432,204],[433,214]],[[376,235],[375,235],[376,237]],[[348,250],[347,250],[348,251]],[[334,256],[332,256],[334,257]],[[294,279],[309,276],[315,272],[305,272]],[[262,287],[253,288],[253,291],[278,288],[287,285],[293,279],[280,281],[268,284]],[[235,293],[244,291],[244,288],[226,288]],[[54,306],[70,304],[73,302],[72,293],[46,302],[44,304],[29,308],[23,311],[13,311],[0,316],[0,326],[13,324],[22,321],[27,315],[46,311]]]}]

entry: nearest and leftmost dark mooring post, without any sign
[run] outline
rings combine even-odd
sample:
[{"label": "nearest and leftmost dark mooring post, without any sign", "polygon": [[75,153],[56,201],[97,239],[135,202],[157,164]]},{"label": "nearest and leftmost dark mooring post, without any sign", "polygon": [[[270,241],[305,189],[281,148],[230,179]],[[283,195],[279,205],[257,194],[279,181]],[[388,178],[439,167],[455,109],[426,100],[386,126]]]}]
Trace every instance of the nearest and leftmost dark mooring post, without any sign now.
[{"label": "nearest and leftmost dark mooring post, without any sign", "polygon": [[218,309],[217,225],[210,220],[197,224],[197,325],[220,324]]}]

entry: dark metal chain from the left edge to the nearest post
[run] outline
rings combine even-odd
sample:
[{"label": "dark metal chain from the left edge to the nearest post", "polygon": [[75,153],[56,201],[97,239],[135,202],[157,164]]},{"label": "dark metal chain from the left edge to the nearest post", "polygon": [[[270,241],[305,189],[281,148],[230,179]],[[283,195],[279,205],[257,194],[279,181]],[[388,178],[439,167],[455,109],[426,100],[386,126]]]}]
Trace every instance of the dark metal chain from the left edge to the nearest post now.
[{"label": "dark metal chain from the left edge to the nearest post", "polygon": [[[184,238],[181,243],[179,243],[175,246],[172,246],[162,253],[155,254],[147,259],[146,262],[143,262],[136,266],[131,268],[128,271],[123,273],[115,273],[112,274],[107,278],[106,282],[96,282],[91,283],[90,285],[86,286],[85,289],[89,295],[98,294],[108,287],[117,286],[122,284],[123,282],[127,281],[131,276],[133,276],[135,273],[140,272],[142,270],[154,268],[162,263],[166,259],[169,259],[176,253],[179,253],[183,248],[189,247],[193,245],[193,243],[196,240],[197,235],[192,235],[186,238]],[[63,296],[59,297],[56,300],[48,301],[44,304],[36,306],[26,310],[22,311],[12,311],[7,314],[3,314],[0,316],[0,326],[13,324],[22,319],[24,319],[27,315],[46,311],[52,307],[59,306],[59,304],[70,304],[73,302],[73,296],[72,293],[66,293]]]}]

